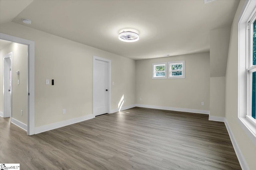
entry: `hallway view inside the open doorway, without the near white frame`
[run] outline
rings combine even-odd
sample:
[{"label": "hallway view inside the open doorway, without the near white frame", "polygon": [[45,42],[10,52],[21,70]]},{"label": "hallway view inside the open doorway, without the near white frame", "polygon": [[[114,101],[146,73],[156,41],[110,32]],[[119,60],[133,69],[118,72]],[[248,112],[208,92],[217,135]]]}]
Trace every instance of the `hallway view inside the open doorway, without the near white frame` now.
[{"label": "hallway view inside the open doorway, without the near white frame", "polygon": [[[28,130],[28,45],[0,39],[3,117]],[[2,71],[3,70],[3,71]],[[13,74],[14,73],[14,74]]]}]

